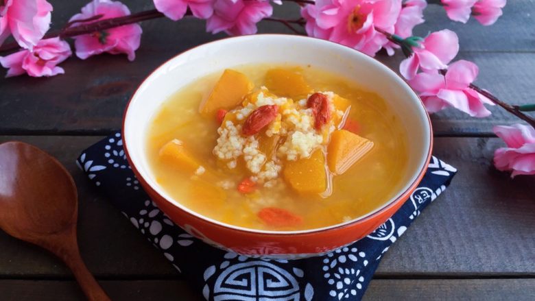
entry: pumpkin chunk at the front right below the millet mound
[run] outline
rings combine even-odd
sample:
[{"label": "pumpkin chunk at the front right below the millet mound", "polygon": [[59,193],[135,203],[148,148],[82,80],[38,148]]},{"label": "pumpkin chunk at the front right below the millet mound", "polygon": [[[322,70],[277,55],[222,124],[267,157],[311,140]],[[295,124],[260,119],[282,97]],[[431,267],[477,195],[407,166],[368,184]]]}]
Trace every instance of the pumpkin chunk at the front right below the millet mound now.
[{"label": "pumpkin chunk at the front right below the millet mound", "polygon": [[322,150],[316,150],[309,158],[287,161],[284,178],[295,191],[303,195],[326,191],[328,179]]}]

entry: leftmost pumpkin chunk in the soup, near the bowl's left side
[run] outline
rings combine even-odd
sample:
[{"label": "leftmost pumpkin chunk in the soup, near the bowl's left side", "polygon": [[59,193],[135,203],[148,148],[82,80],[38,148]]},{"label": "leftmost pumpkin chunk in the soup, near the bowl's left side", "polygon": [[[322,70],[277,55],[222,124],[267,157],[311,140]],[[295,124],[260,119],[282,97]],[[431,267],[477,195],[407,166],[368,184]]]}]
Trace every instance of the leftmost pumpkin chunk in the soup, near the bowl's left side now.
[{"label": "leftmost pumpkin chunk in the soup, near the bowl's left side", "polygon": [[187,173],[194,173],[201,167],[198,160],[196,160],[187,149],[184,147],[182,141],[173,139],[165,143],[160,148],[160,158],[165,160],[166,164],[174,166]]}]

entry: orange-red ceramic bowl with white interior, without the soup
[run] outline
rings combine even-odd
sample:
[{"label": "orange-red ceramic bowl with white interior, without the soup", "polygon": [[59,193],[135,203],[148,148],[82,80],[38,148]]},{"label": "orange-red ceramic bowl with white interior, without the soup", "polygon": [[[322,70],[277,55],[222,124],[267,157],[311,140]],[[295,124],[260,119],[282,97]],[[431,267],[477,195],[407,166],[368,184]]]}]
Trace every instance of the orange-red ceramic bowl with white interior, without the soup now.
[{"label": "orange-red ceramic bowl with white interior, without the soup", "polygon": [[[342,75],[375,91],[407,128],[408,171],[404,184],[381,208],[343,224],[276,232],[224,224],[193,212],[170,197],[154,180],[145,152],[146,130],[160,105],[178,89],[215,71],[240,64],[311,64]],[[139,86],[123,117],[123,143],[132,170],[152,197],[184,230],[218,248],[246,256],[302,258],[324,254],[357,241],[392,217],[422,179],[431,156],[431,122],[422,101],[407,83],[384,64],[359,51],[316,38],[254,35],[226,38],[171,58]]]}]

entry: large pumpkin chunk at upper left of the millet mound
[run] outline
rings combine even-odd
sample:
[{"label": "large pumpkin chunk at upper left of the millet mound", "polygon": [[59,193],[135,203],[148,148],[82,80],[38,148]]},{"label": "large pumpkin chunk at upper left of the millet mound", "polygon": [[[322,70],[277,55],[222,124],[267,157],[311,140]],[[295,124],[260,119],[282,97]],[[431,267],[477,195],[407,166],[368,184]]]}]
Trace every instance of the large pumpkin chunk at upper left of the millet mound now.
[{"label": "large pumpkin chunk at upper left of the millet mound", "polygon": [[210,96],[201,103],[199,112],[204,117],[212,117],[219,109],[233,109],[241,103],[243,96],[247,95],[252,87],[252,82],[245,74],[225,69]]}]

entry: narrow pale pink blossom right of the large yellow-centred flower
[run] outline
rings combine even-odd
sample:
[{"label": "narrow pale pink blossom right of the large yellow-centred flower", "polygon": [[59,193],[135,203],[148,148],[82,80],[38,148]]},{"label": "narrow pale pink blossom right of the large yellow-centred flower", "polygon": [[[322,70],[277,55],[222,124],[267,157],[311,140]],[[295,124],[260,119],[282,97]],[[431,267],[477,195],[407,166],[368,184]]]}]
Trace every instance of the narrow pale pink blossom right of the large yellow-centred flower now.
[{"label": "narrow pale pink blossom right of the large yellow-centred flower", "polygon": [[[394,34],[401,38],[408,38],[412,36],[412,29],[418,24],[424,23],[423,10],[427,7],[426,0],[407,0],[403,3],[398,20],[394,24]],[[389,56],[394,55],[394,49],[398,49],[399,45],[388,42],[383,46],[388,52]]]}]

